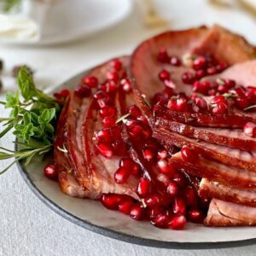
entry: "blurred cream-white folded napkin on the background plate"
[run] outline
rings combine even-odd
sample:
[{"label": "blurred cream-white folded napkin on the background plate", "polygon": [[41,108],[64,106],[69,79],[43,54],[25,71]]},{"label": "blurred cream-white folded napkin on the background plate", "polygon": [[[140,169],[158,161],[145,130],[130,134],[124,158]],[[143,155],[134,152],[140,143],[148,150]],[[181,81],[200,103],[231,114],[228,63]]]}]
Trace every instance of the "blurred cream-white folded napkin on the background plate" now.
[{"label": "blurred cream-white folded napkin on the background plate", "polygon": [[0,15],[0,39],[2,41],[37,42],[44,33],[44,21],[53,0],[22,0],[16,14]]}]

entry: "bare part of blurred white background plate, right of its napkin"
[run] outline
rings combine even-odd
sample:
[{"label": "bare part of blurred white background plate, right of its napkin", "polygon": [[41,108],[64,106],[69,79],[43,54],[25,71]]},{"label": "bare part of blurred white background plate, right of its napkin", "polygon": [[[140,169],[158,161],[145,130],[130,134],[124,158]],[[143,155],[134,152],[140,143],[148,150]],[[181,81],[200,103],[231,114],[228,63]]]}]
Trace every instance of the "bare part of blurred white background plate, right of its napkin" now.
[{"label": "bare part of blurred white background plate, right of its napkin", "polygon": [[48,10],[39,41],[2,39],[1,42],[46,45],[87,38],[124,20],[132,7],[133,0],[61,0],[57,7]]}]

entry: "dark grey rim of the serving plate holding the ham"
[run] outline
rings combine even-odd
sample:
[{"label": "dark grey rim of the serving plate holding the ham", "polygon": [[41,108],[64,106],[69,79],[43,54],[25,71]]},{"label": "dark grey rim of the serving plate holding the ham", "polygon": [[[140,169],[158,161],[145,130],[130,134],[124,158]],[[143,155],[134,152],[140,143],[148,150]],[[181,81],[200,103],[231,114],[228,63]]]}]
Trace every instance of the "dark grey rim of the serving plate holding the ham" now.
[{"label": "dark grey rim of the serving plate holding the ham", "polygon": [[[62,82],[61,84],[55,87],[49,88],[49,90],[47,90],[46,92],[50,94],[55,90],[65,87],[65,85],[68,84],[70,80],[76,79],[82,74],[89,73],[90,70],[92,70],[95,67],[97,67],[97,65],[91,68],[87,68],[84,71],[73,75],[70,79],[65,80],[64,82]],[[15,150],[17,150],[17,147],[18,147],[18,144],[15,143]],[[47,195],[44,195],[44,193],[40,189],[38,189],[38,187],[33,183],[32,178],[29,176],[28,172],[26,172],[26,167],[21,161],[18,161],[16,163],[16,166],[18,166],[20,175],[24,179],[26,185],[32,190],[33,194],[36,195],[38,199],[44,203],[44,205],[49,207],[51,210],[53,210],[55,213],[60,215],[62,218],[66,218],[71,223],[77,224],[80,227],[84,228],[85,230],[90,230],[102,236],[107,236],[118,241],[125,241],[125,242],[146,246],[146,247],[172,248],[172,249],[178,249],[178,250],[219,249],[219,248],[229,248],[229,247],[244,247],[244,246],[256,244],[256,237],[250,238],[250,239],[237,240],[237,241],[207,241],[207,242],[158,241],[158,240],[148,239],[148,238],[143,238],[138,236],[131,236],[120,231],[110,230],[106,227],[92,224],[89,221],[79,218],[73,215],[72,213],[67,212],[67,210],[63,209],[62,207],[58,206],[54,201],[50,200],[49,197],[47,197]]]}]

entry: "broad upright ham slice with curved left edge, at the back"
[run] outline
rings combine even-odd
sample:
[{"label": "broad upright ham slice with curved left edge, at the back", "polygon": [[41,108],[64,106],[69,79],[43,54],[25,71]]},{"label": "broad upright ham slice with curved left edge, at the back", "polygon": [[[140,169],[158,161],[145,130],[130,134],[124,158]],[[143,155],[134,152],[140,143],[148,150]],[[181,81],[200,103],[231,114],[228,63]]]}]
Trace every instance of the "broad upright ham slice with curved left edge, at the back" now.
[{"label": "broad upright ham slice with curved left edge, at the back", "polygon": [[135,79],[137,89],[141,90],[148,98],[154,96],[165,88],[158,78],[160,70],[165,68],[172,75],[172,81],[177,91],[191,91],[191,86],[183,84],[181,79],[189,67],[172,67],[160,64],[157,55],[160,49],[166,49],[168,55],[182,57],[195,48],[207,33],[206,27],[189,29],[184,31],[165,32],[154,38],[150,38],[140,44],[131,57],[131,73]]}]

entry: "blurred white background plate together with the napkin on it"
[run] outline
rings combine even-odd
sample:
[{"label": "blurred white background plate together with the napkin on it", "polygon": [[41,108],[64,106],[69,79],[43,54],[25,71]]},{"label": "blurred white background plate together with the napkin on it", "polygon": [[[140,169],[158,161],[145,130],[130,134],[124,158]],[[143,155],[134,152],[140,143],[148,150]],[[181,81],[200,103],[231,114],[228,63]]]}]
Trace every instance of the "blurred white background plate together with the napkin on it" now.
[{"label": "blurred white background plate together with the napkin on it", "polygon": [[[60,44],[113,26],[131,13],[131,0],[0,0],[0,43]],[[18,4],[20,3],[20,5]]]}]

